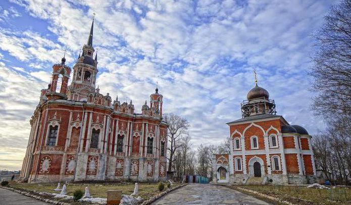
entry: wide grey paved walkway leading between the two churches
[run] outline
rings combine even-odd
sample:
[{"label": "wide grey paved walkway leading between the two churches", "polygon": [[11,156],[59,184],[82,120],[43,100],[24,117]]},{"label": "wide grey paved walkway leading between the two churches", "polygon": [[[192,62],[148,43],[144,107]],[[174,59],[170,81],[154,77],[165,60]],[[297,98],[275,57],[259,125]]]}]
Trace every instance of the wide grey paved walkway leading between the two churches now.
[{"label": "wide grey paved walkway leading between the two churches", "polygon": [[156,204],[270,204],[253,196],[211,184],[188,184],[155,202]]}]

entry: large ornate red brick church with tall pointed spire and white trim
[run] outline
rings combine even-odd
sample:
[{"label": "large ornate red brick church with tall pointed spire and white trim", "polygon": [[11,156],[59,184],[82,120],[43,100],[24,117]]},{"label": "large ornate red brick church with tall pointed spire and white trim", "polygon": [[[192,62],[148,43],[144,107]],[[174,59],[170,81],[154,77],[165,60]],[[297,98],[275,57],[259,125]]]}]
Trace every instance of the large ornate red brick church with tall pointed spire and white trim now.
[{"label": "large ornate red brick church with tall pointed spire and white trim", "polygon": [[[30,120],[21,178],[28,182],[82,180],[158,181],[166,177],[167,123],[156,88],[141,113],[132,100],[112,101],[96,88],[97,54],[87,43],[71,69],[53,66]],[[72,82],[68,85],[72,75]]]}]

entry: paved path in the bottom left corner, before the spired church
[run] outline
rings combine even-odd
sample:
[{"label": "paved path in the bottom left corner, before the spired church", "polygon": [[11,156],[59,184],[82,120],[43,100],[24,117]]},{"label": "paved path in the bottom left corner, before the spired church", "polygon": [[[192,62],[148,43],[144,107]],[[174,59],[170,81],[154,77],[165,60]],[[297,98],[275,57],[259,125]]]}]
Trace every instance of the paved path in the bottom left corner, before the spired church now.
[{"label": "paved path in the bottom left corner, before the spired church", "polygon": [[0,188],[0,204],[7,205],[44,205],[49,204],[43,201],[36,200],[34,198],[24,196],[20,193],[16,193],[7,189]]}]

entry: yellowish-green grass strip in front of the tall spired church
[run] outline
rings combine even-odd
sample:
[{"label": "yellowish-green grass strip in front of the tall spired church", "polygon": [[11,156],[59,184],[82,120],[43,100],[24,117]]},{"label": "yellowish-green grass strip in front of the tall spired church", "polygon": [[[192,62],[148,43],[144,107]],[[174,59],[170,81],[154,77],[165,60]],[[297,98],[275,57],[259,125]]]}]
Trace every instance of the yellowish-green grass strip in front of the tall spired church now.
[{"label": "yellowish-green grass strip in front of the tall spired church", "polygon": [[[27,190],[32,190],[32,191],[39,191],[39,192],[49,192],[49,193],[60,193],[60,191],[54,191],[54,189],[57,187],[57,183],[42,183],[42,184],[29,184],[29,183],[11,183],[11,187],[14,188],[21,188],[21,189],[27,189]],[[177,186],[178,184],[174,183],[174,186]],[[73,192],[76,189],[80,189],[82,191],[85,190],[85,187],[89,188],[90,195],[93,197],[101,197],[101,198],[107,198],[107,190],[110,189],[118,189],[122,190],[122,194],[128,194],[130,195],[134,191],[134,183],[127,183],[127,182],[122,182],[122,183],[69,183],[67,186],[67,195],[72,196]],[[139,195],[143,199],[149,199],[152,196],[159,194],[160,191],[158,190],[158,184],[156,183],[138,183],[139,186]],[[62,188],[62,185],[61,185]],[[165,184],[165,189],[167,189],[167,186]]]}]

